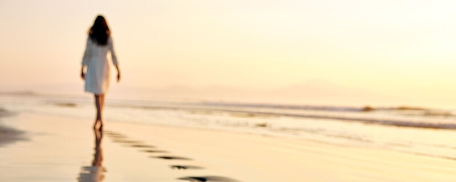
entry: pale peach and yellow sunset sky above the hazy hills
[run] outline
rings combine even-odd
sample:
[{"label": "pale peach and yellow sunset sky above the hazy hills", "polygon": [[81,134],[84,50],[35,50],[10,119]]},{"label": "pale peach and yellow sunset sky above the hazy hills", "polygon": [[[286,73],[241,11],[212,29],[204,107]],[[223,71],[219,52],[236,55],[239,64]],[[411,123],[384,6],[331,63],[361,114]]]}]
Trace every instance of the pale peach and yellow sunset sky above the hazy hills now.
[{"label": "pale peach and yellow sunset sky above the hazy hills", "polygon": [[82,87],[87,30],[102,14],[119,86],[321,81],[451,105],[455,9],[453,0],[0,0],[0,88]]}]

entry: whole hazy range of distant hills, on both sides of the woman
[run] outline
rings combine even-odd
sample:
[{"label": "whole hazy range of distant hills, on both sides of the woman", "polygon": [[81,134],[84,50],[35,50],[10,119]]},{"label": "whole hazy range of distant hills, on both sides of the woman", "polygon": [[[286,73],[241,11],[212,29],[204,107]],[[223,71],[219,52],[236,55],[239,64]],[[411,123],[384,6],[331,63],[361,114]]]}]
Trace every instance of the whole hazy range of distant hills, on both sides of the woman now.
[{"label": "whole hazy range of distant hills, on both sides of the woman", "polygon": [[[33,93],[87,96],[83,84],[54,84],[34,86]],[[148,88],[111,84],[111,98],[134,98],[178,101],[236,101],[236,102],[287,102],[301,104],[375,104],[397,101],[397,98],[354,88],[347,88],[328,81],[306,81],[276,89],[253,89],[235,86],[207,86],[194,88],[174,85],[165,88]]]}]

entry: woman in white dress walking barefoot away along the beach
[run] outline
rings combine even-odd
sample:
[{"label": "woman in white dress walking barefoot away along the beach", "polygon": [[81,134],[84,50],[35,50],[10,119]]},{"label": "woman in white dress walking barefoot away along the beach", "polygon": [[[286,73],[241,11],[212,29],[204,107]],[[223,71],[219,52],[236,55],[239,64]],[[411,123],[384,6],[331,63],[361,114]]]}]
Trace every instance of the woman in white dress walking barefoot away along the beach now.
[{"label": "woman in white dress walking barefoot away along the beach", "polygon": [[[93,129],[103,129],[102,111],[104,107],[104,94],[109,85],[108,51],[117,69],[117,81],[120,80],[119,63],[115,56],[113,40],[110,36],[108,24],[103,16],[98,15],[93,26],[88,31],[87,46],[83,57],[81,77],[85,80],[85,91],[94,94],[97,116]],[[85,71],[85,72],[84,72]]]}]

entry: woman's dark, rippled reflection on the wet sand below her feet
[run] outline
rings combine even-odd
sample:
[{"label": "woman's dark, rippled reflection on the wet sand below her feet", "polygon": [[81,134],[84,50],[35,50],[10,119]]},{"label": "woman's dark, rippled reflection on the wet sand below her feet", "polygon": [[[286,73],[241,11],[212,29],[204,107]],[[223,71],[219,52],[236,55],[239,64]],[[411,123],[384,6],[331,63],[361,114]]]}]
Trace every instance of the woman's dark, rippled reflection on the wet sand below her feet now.
[{"label": "woman's dark, rippled reflection on the wet sand below her feet", "polygon": [[101,148],[101,140],[103,139],[103,131],[93,130],[95,134],[95,153],[91,166],[83,166],[79,173],[78,182],[102,182],[106,169],[102,166],[103,151]]}]

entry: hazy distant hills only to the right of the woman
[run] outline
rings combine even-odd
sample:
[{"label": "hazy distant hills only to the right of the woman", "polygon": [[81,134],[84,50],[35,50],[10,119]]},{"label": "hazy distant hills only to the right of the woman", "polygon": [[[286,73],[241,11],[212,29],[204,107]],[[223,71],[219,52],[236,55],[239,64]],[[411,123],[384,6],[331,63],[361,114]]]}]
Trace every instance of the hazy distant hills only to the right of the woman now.
[{"label": "hazy distant hills only to the right of the woman", "polygon": [[[239,102],[294,102],[294,103],[359,103],[371,104],[396,101],[396,98],[381,96],[369,91],[338,86],[327,81],[307,81],[277,89],[251,89],[233,86],[169,86],[160,89],[118,88],[115,92],[135,93],[156,99],[190,101],[239,101]],[[113,90],[114,93],[114,90]]]}]

